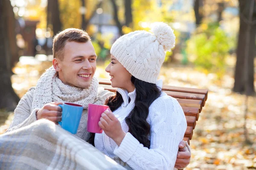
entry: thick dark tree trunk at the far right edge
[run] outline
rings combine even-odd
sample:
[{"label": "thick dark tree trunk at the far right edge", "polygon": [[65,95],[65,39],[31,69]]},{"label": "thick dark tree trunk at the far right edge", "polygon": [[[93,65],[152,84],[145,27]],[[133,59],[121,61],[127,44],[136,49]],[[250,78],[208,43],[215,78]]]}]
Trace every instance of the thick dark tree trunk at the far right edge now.
[{"label": "thick dark tree trunk at the far right edge", "polygon": [[[239,0],[239,9],[240,9],[240,27],[239,27],[239,37],[238,37],[238,44],[236,49],[236,71],[235,71],[235,83],[233,91],[244,93],[245,92],[245,79],[244,77],[244,71],[247,69],[247,79],[248,79],[248,85],[247,85],[247,95],[252,95],[255,93],[254,91],[254,57],[255,57],[255,41],[256,41],[256,24],[253,24],[250,29],[250,43],[248,46],[248,68],[244,68],[244,57],[245,57],[245,50],[246,50],[246,32],[248,27],[248,22],[246,22],[245,17],[248,17],[249,10],[249,4],[247,1]],[[255,7],[254,7],[255,9]],[[241,12],[244,11],[243,17],[241,15]],[[254,10],[253,13],[253,20],[256,20],[256,10]]]}]

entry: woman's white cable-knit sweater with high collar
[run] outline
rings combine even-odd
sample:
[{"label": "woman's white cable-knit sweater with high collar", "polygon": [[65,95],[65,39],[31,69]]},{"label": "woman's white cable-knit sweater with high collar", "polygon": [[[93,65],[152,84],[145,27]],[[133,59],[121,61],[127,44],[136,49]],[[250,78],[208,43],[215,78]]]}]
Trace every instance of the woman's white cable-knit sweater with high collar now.
[{"label": "woman's white cable-knit sweater with high collar", "polygon": [[[162,84],[158,85],[162,87]],[[134,108],[136,90],[129,93],[126,90],[117,90],[124,100],[121,107],[113,114],[121,122],[126,133],[118,147],[113,139],[103,133],[96,133],[95,147],[107,156],[116,159],[116,156],[126,162],[134,170],[172,170],[178,152],[178,145],[183,140],[186,131],[186,118],[177,100],[162,92],[149,107],[147,122],[151,126],[150,149],[128,133],[125,117]],[[129,98],[131,99],[130,102]]]}]

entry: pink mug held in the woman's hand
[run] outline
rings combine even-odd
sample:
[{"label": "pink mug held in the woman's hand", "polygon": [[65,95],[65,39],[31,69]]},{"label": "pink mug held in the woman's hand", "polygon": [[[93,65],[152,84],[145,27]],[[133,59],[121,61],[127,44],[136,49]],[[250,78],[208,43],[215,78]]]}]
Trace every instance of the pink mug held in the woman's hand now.
[{"label": "pink mug held in the woman's hand", "polygon": [[102,133],[99,127],[99,119],[102,113],[109,109],[106,105],[88,104],[87,131],[91,133]]}]

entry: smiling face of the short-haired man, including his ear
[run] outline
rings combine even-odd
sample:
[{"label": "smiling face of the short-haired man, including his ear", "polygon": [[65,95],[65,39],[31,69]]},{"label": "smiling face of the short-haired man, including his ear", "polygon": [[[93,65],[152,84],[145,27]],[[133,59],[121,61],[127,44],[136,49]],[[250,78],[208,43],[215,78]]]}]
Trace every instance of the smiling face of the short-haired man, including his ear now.
[{"label": "smiling face of the short-haired man, including his ear", "polygon": [[53,65],[64,84],[88,88],[96,70],[96,53],[91,41],[66,42],[64,59],[54,59]]}]

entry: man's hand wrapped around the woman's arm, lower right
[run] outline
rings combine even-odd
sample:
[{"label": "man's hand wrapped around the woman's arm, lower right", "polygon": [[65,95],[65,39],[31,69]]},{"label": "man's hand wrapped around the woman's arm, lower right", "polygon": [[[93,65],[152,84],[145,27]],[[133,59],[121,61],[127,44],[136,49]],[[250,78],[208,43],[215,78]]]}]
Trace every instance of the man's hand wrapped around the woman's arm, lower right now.
[{"label": "man's hand wrapped around the woman's arm, lower right", "polygon": [[179,144],[179,151],[177,154],[177,159],[175,162],[175,167],[178,169],[183,169],[189,164],[191,153],[186,147],[185,141],[181,141]]}]

